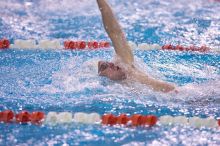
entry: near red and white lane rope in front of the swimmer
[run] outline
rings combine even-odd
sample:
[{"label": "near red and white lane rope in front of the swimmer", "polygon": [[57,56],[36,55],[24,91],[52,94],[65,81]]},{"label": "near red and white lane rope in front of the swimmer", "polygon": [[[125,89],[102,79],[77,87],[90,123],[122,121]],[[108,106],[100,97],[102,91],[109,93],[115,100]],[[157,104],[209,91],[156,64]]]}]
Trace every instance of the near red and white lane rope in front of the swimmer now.
[{"label": "near red and white lane rope in front of the swimmer", "polygon": [[128,116],[127,114],[114,114],[100,115],[98,113],[71,113],[71,112],[49,112],[45,114],[41,111],[21,111],[14,113],[11,110],[0,112],[0,122],[2,123],[19,123],[19,124],[35,124],[35,125],[57,125],[67,123],[83,123],[83,124],[102,124],[107,126],[125,125],[130,127],[138,126],[155,126],[155,125],[184,125],[195,128],[220,127],[220,119],[213,117],[199,118],[199,117],[185,117],[185,116],[169,116],[164,115],[157,117],[155,115],[141,115],[134,114]]}]

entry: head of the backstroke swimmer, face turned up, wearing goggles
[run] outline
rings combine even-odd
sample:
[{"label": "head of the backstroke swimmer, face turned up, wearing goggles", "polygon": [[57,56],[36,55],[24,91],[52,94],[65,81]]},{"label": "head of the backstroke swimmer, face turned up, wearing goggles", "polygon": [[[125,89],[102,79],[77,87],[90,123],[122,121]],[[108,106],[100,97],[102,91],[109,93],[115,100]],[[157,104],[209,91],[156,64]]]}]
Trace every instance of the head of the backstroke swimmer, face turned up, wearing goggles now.
[{"label": "head of the backstroke swimmer, face turned up, wearing goggles", "polygon": [[125,72],[114,63],[99,61],[98,73],[100,76],[108,77],[111,80],[124,80],[126,79]]}]

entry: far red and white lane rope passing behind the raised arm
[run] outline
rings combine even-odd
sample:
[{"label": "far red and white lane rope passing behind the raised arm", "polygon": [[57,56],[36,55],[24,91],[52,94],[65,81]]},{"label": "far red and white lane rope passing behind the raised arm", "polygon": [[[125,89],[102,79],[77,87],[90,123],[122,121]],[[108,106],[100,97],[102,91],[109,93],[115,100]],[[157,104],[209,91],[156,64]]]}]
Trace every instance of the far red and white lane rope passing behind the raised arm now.
[{"label": "far red and white lane rope passing behind the raised arm", "polygon": [[[0,40],[0,50],[5,49],[64,49],[64,50],[96,50],[103,48],[110,48],[111,44],[108,41],[83,41],[83,40],[14,40],[14,44],[6,38]],[[220,48],[210,48],[203,46],[182,46],[165,44],[160,46],[158,44],[141,43],[136,44],[129,41],[129,46],[132,49],[141,50],[166,50],[166,51],[191,51],[206,53],[210,51],[220,52]]]}]

